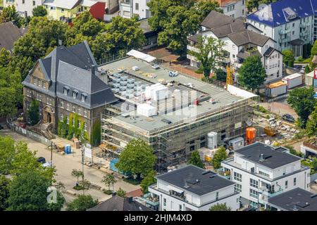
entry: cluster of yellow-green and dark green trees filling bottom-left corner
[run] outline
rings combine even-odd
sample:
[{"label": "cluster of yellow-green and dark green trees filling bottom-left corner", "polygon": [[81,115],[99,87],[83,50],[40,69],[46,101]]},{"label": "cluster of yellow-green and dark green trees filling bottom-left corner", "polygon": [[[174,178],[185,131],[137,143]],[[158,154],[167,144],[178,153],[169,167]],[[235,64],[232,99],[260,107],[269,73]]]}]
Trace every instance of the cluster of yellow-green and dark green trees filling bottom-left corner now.
[{"label": "cluster of yellow-green and dark green trees filling bottom-left corner", "polygon": [[61,185],[55,185],[56,202],[48,198],[54,174],[54,168],[37,162],[27,143],[0,136],[0,211],[61,210]]}]

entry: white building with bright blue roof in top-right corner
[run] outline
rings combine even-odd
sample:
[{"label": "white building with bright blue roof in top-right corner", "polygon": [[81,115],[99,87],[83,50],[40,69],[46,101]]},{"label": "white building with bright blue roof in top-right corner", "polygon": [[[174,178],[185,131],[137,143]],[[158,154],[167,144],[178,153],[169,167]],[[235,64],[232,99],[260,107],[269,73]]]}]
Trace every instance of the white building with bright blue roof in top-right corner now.
[{"label": "white building with bright blue roof in top-right corner", "polygon": [[303,46],[313,44],[317,35],[317,1],[281,0],[247,16],[247,22],[275,40],[275,49],[292,49],[303,56]]}]

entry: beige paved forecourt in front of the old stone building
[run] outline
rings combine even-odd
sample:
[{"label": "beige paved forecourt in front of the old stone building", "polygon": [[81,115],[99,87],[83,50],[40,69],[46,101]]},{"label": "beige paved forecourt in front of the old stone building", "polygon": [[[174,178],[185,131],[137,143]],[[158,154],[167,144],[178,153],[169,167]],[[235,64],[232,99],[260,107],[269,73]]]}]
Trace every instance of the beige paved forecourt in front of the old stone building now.
[{"label": "beige paved forecourt in front of the old stone building", "polygon": [[[49,161],[51,159],[51,151],[42,143],[33,141],[32,139],[17,134],[14,131],[11,131],[10,129],[0,130],[0,135],[10,135],[13,137],[13,139],[15,139],[15,141],[26,141],[30,150],[37,151],[37,156],[44,157],[46,161]],[[55,179],[57,181],[61,181],[66,186],[65,190],[70,190],[75,193],[82,193],[82,191],[78,192],[73,189],[73,186],[75,186],[77,179],[70,175],[73,169],[82,169],[81,160],[82,158],[80,150],[77,150],[75,153],[70,155],[61,155],[60,153],[53,152],[53,165],[56,167]],[[108,188],[103,183],[101,183],[101,179],[103,179],[103,176],[106,174],[105,172],[87,166],[84,167],[84,172],[85,179],[90,181],[92,184],[97,184],[102,188]],[[121,179],[117,179],[117,183],[114,185],[114,189],[118,190],[118,188],[123,188],[123,190],[125,190],[128,193],[130,191],[135,191],[139,188],[139,186],[128,184],[127,182]],[[110,195],[106,195],[101,191],[97,191],[95,189],[86,191],[86,193],[92,195],[93,198],[97,198],[98,200],[106,200],[111,197]],[[64,196],[66,198],[66,201],[68,202],[75,198],[67,194],[64,194]]]}]

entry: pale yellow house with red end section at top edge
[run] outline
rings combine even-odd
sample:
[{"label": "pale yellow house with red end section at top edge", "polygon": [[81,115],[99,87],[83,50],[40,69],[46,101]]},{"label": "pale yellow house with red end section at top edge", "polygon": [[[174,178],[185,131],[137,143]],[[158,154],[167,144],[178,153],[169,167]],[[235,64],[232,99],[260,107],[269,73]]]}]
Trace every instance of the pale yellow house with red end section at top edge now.
[{"label": "pale yellow house with red end section at top edge", "polygon": [[106,4],[92,0],[45,0],[43,5],[51,20],[65,20],[68,23],[78,14],[89,11],[98,20],[104,20]]}]

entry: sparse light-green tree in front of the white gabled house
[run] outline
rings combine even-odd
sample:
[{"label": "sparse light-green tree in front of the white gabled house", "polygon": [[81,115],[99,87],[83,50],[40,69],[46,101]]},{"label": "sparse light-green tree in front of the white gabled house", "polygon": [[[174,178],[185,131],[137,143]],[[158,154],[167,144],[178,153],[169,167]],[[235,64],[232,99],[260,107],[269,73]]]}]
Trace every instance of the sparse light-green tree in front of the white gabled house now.
[{"label": "sparse light-green tree in front of the white gabled house", "polygon": [[204,71],[204,76],[208,79],[211,70],[215,71],[216,67],[223,60],[224,42],[213,37],[199,37],[195,45],[197,51],[189,51],[189,55],[194,56],[201,63],[201,69]]}]

